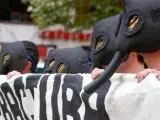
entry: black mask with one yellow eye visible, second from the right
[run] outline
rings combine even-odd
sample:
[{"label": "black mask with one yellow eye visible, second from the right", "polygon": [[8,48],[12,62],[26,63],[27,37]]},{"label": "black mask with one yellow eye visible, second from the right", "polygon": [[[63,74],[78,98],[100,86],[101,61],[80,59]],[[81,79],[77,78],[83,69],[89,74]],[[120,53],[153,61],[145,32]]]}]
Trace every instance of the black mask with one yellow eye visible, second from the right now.
[{"label": "black mask with one yellow eye visible, second from the right", "polygon": [[90,50],[92,69],[102,68],[102,65],[107,65],[112,60],[119,17],[120,14],[105,18],[94,25]]}]

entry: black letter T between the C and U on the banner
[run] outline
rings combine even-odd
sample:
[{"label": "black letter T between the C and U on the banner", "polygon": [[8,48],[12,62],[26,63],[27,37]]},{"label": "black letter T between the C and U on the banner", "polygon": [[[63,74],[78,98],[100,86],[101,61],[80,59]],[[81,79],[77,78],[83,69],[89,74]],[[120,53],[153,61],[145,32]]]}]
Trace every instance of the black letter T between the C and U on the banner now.
[{"label": "black letter T between the C and U on the banner", "polygon": [[30,89],[33,99],[34,99],[34,88],[37,87],[40,77],[41,75],[29,75],[26,78],[26,89]]}]

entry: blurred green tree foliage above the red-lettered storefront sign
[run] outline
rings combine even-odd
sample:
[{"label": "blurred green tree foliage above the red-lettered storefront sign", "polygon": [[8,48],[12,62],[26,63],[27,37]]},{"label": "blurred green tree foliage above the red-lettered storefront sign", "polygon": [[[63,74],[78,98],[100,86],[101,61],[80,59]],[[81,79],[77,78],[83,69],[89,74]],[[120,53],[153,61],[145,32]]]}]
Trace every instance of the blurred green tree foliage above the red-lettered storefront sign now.
[{"label": "blurred green tree foliage above the red-lettered storefront sign", "polygon": [[30,0],[28,7],[40,28],[63,24],[67,29],[89,29],[121,9],[122,0]]}]

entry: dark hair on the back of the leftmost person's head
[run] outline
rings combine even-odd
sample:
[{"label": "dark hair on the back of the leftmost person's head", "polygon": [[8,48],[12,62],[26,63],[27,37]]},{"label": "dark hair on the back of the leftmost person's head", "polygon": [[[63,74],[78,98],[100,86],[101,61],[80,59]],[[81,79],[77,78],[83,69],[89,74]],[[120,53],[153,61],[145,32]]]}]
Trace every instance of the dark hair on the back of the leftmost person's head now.
[{"label": "dark hair on the back of the leftmost person's head", "polygon": [[39,52],[36,45],[31,41],[21,41],[26,49],[27,57],[32,63],[32,72],[35,72],[39,62]]}]

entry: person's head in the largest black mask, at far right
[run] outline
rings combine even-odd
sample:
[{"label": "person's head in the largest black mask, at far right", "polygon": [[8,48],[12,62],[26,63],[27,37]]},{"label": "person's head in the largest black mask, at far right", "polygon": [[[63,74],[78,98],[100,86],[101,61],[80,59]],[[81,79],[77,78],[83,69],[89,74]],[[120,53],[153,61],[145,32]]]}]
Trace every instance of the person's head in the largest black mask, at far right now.
[{"label": "person's head in the largest black mask, at far right", "polygon": [[159,8],[159,0],[125,0],[124,12],[119,19],[121,24],[117,29],[118,57],[113,59],[114,63],[112,61],[108,71],[114,69],[113,74],[123,57],[130,52],[141,53],[149,68],[158,67],[155,60],[160,60],[156,58],[160,55]]}]

